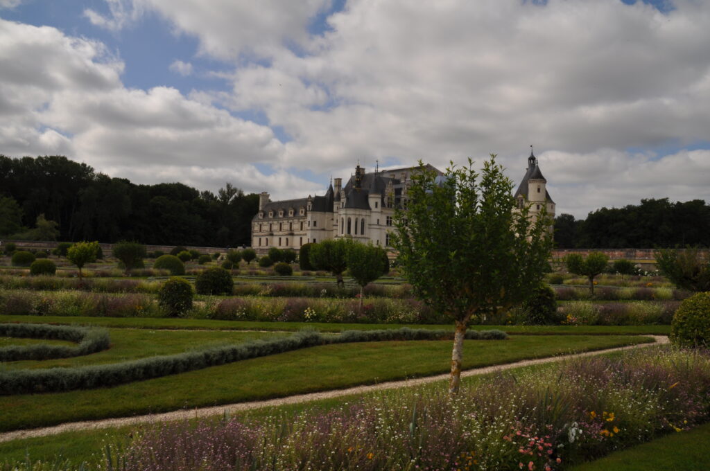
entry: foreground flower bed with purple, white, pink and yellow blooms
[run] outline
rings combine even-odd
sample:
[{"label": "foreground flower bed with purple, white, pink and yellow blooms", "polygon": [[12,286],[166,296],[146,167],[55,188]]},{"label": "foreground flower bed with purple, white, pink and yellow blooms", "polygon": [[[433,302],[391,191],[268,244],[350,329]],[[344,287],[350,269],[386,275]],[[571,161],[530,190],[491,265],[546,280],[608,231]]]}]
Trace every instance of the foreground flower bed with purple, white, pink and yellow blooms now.
[{"label": "foreground flower bed with purple, white, pink and yellow blooms", "polygon": [[707,352],[650,348],[500,374],[453,399],[401,389],[336,409],[166,423],[126,470],[559,470],[710,419]]}]

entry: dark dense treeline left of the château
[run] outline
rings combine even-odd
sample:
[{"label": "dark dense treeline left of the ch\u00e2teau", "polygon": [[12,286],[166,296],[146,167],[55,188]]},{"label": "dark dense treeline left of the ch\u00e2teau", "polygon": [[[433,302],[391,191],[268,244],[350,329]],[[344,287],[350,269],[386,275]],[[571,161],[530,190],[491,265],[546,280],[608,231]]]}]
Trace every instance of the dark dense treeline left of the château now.
[{"label": "dark dense treeline left of the ch\u00e2teau", "polygon": [[256,211],[258,194],[229,183],[214,194],[182,183],[133,184],[63,156],[0,155],[5,238],[249,245]]}]

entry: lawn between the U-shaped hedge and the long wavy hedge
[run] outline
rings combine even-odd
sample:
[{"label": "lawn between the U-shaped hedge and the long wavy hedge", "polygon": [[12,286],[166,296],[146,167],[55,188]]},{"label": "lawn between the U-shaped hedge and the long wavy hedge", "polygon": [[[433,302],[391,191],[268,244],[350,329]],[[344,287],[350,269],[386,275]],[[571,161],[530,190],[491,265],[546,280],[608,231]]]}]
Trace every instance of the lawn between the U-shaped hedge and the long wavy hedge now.
[{"label": "lawn between the U-shaped hedge and the long wavy hedge", "polygon": [[[109,350],[73,358],[58,358],[42,361],[6,362],[8,370],[24,368],[70,367],[82,365],[101,365],[116,363],[156,355],[182,353],[195,348],[204,348],[225,343],[244,343],[257,338],[274,338],[290,335],[288,333],[239,332],[239,331],[178,331],[150,330],[135,328],[111,328],[111,347]],[[11,339],[26,340],[26,339]],[[45,342],[46,340],[35,340]],[[70,343],[70,342],[65,342]],[[3,343],[0,343],[0,346]]]}]

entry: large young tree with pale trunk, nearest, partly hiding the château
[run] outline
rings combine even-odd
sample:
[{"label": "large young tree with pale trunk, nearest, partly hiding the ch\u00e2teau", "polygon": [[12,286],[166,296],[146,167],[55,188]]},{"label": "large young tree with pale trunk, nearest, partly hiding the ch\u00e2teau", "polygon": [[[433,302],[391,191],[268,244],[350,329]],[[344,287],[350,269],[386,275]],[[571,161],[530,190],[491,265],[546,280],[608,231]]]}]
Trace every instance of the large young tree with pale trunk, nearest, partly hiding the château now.
[{"label": "large young tree with pale trunk, nearest, partly hiding the ch\u00e2teau", "polygon": [[552,246],[544,213],[516,209],[513,182],[496,156],[479,175],[447,169],[443,179],[420,162],[395,212],[391,240],[418,298],[454,320],[449,392],[459,390],[464,336],[471,318],[520,304],[540,285]]}]

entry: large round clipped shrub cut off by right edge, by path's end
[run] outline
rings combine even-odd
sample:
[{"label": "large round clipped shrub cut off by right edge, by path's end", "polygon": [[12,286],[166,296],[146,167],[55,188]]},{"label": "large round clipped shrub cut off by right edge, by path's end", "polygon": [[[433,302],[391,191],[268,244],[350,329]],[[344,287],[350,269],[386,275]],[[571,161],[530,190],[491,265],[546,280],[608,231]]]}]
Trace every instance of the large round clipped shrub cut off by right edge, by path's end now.
[{"label": "large round clipped shrub cut off by right edge, by path's end", "polygon": [[670,324],[670,340],[682,347],[710,346],[710,292],[682,301]]}]

